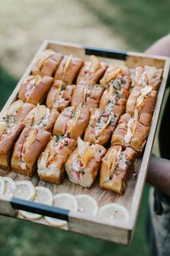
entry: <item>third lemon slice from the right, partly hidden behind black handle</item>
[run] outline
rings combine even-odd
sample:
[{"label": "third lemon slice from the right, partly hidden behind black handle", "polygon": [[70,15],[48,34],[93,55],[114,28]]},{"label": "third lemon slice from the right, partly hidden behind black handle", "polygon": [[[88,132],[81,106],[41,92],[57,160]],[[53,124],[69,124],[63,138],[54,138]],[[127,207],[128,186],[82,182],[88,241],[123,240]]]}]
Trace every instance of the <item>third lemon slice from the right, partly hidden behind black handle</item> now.
[{"label": "third lemon slice from the right, partly hidden behind black handle", "polygon": [[[66,210],[78,210],[78,202],[76,200],[76,197],[74,195],[71,195],[69,193],[60,193],[57,195],[54,195],[53,197],[53,205],[58,208],[63,208]],[[60,220],[58,218],[51,218],[48,216],[45,216],[45,220],[48,221],[52,226],[65,226],[67,224],[67,221]]]}]

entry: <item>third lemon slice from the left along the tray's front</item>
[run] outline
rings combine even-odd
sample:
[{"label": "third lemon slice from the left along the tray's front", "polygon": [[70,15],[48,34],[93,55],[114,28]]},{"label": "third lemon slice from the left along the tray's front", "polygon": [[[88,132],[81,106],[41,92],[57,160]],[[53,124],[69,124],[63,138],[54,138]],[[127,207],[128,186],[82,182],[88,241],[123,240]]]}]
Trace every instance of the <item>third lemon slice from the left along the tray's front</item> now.
[{"label": "third lemon slice from the left along the tray's front", "polygon": [[17,188],[14,190],[14,197],[18,197],[24,200],[34,200],[35,199],[35,187],[32,182],[29,181],[18,181],[15,182]]}]

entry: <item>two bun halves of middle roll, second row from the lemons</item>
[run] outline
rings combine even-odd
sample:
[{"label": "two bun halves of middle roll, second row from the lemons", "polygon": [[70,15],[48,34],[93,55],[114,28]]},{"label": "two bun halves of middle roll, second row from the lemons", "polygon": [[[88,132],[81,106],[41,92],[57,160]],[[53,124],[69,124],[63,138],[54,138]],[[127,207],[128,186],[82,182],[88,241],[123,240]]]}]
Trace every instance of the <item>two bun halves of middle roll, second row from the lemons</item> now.
[{"label": "two bun halves of middle roll, second row from the lemons", "polygon": [[[71,111],[74,107],[68,107],[63,112],[61,112],[58,119],[55,121],[53,128],[53,135],[66,135],[66,128],[69,120],[71,119]],[[68,137],[76,140],[78,137],[83,135],[84,130],[89,121],[89,110],[86,107],[81,108],[81,114],[77,119],[76,123],[73,125],[71,132],[69,132]]]}]

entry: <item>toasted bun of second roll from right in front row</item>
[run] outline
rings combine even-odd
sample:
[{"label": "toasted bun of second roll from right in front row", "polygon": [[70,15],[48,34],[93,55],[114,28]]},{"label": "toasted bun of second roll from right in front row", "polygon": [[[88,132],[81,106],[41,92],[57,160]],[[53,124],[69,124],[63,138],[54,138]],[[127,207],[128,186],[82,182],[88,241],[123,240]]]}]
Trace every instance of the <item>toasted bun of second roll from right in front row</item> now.
[{"label": "toasted bun of second roll from right in front row", "polygon": [[[102,145],[91,145],[91,148],[94,148],[94,154],[87,163],[86,167],[83,168],[83,171],[76,171],[73,169],[73,161],[75,158],[77,158],[78,148],[73,150],[73,153],[68,157],[65,165],[70,181],[80,184],[83,187],[91,187],[92,184],[94,184],[102,157],[106,153],[106,149]],[[72,175],[76,176],[76,180],[71,178]]]}]

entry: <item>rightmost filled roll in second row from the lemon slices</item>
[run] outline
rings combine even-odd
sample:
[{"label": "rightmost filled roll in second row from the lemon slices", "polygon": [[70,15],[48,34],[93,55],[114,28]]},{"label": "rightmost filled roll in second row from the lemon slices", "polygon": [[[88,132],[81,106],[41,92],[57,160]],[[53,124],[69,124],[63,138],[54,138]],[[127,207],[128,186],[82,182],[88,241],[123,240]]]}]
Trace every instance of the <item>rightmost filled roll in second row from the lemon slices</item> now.
[{"label": "rightmost filled roll in second row from the lemon slices", "polygon": [[135,108],[134,116],[126,113],[120,117],[120,121],[112,134],[112,145],[121,145],[122,148],[133,148],[142,152],[148,132],[151,126],[152,116],[142,113],[138,119],[138,110]]}]

